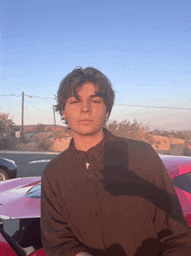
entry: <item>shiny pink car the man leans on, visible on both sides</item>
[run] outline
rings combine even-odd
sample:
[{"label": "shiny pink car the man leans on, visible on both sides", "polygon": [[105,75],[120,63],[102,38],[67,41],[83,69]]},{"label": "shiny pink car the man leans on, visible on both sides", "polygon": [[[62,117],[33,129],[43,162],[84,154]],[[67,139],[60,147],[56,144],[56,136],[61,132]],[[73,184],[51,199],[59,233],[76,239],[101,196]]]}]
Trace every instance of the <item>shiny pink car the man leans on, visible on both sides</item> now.
[{"label": "shiny pink car the man leans on, visible on both sides", "polygon": [[[191,226],[191,158],[160,157]],[[0,183],[0,256],[46,256],[41,242],[40,197],[41,177]]]}]

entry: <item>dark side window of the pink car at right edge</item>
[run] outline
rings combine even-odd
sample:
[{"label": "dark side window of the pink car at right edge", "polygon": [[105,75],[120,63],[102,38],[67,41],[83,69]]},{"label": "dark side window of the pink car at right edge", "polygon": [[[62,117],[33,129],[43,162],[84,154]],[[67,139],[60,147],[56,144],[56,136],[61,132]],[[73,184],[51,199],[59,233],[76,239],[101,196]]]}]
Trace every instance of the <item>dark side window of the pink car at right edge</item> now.
[{"label": "dark side window of the pink car at right edge", "polygon": [[173,179],[173,185],[185,192],[191,193],[191,172],[175,177]]}]

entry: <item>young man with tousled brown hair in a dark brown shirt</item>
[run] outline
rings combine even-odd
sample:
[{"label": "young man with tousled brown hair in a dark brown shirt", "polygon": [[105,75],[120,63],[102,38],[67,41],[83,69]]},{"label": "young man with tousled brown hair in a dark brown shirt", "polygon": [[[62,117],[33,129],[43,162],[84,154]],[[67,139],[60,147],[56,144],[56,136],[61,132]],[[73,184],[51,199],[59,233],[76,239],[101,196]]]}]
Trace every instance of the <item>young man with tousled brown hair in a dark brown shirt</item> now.
[{"label": "young man with tousled brown hair in a dark brown shirt", "polygon": [[161,158],[147,143],[103,125],[115,93],[94,68],[63,78],[56,110],[69,148],[42,177],[42,241],[48,256],[190,256],[191,228]]}]

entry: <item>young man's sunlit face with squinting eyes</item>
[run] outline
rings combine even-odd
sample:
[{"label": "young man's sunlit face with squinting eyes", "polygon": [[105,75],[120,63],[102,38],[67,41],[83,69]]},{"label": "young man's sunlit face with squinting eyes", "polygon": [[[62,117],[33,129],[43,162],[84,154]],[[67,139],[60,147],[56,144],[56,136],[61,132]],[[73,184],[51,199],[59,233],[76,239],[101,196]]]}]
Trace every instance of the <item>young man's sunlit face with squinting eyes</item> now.
[{"label": "young man's sunlit face with squinting eyes", "polygon": [[94,84],[88,82],[77,92],[79,101],[75,97],[67,99],[63,117],[73,133],[93,135],[102,129],[104,119],[109,117],[106,105],[101,97],[95,97],[95,91],[97,88]]}]

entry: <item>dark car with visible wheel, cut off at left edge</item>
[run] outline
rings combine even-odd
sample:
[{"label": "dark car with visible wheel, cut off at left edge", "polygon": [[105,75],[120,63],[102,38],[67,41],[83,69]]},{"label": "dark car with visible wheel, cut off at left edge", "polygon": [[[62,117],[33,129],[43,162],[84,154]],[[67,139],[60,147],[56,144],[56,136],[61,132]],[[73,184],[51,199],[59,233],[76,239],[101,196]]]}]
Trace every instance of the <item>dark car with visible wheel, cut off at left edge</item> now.
[{"label": "dark car with visible wheel, cut off at left edge", "polygon": [[10,159],[0,158],[0,181],[16,178],[17,166]]}]

